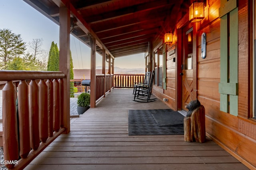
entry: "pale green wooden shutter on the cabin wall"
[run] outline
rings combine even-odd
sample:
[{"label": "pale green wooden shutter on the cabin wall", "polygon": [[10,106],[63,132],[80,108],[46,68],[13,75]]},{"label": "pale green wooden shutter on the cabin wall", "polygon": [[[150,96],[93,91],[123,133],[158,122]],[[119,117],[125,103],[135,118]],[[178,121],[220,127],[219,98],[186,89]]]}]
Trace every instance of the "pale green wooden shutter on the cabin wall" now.
[{"label": "pale green wooden shutter on the cabin wall", "polygon": [[[235,1],[232,1],[232,2],[235,2]],[[219,93],[220,93],[220,110],[237,116],[238,115],[238,8],[236,7],[236,4],[232,6],[235,7],[232,10],[230,10],[230,8],[227,9],[227,11],[224,11],[222,9],[222,12],[221,12],[222,16],[220,18]]]}]

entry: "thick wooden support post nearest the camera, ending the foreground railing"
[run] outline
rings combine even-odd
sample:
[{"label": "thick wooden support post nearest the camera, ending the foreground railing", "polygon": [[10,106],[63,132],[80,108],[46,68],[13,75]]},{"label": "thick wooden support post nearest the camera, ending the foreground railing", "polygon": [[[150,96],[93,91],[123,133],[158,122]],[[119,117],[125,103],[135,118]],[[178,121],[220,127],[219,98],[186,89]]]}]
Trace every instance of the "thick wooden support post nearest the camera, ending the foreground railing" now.
[{"label": "thick wooden support post nearest the camera, ending the foreground railing", "polygon": [[60,71],[63,78],[63,120],[65,132],[70,132],[70,10],[60,7]]}]

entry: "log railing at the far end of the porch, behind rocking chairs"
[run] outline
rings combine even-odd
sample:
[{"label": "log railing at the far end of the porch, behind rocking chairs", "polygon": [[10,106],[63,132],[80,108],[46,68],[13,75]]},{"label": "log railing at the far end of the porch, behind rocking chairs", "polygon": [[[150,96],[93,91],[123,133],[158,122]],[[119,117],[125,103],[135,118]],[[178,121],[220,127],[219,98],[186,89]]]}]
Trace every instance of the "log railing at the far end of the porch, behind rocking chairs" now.
[{"label": "log railing at the far end of the porch, behind rocking chairs", "polygon": [[133,88],[134,83],[144,82],[144,74],[115,74],[114,87],[115,88]]}]

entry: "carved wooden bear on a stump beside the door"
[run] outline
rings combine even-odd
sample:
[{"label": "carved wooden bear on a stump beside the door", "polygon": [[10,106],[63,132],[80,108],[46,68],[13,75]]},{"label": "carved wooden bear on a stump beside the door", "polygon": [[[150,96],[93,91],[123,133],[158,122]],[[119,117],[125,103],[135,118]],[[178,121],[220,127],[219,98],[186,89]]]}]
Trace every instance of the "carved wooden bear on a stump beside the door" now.
[{"label": "carved wooden bear on a stump beside the door", "polygon": [[190,101],[186,108],[188,113],[184,117],[184,140],[203,143],[206,139],[204,106],[196,99]]}]

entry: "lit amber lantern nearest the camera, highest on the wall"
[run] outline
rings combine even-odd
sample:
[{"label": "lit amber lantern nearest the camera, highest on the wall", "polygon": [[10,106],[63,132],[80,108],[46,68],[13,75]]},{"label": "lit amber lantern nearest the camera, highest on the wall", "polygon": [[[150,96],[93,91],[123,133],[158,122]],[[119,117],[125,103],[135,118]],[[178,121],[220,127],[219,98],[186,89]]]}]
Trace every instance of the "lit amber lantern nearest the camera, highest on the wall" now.
[{"label": "lit amber lantern nearest the camera, highest on the wall", "polygon": [[204,2],[193,2],[189,7],[189,21],[200,22],[204,19]]}]

